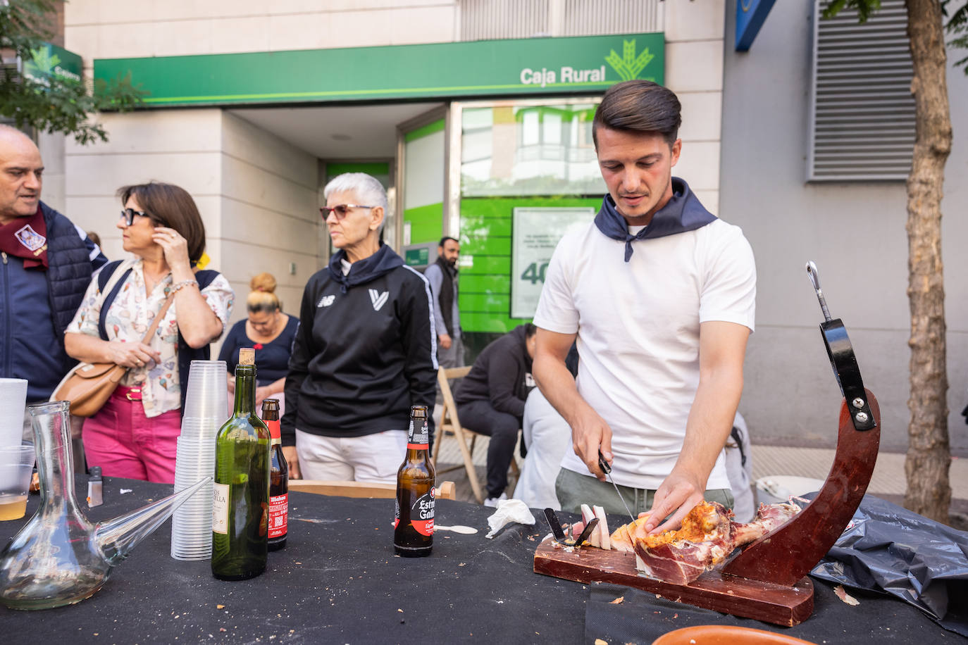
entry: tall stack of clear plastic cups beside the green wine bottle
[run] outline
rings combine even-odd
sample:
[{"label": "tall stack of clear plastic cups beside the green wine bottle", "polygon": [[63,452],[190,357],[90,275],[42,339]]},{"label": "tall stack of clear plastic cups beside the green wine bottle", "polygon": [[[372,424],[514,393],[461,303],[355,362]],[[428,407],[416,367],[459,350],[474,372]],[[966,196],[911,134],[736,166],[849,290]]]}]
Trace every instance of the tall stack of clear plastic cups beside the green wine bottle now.
[{"label": "tall stack of clear plastic cups beside the green wine bottle", "polygon": [[[192,361],[175,458],[175,492],[215,474],[215,435],[226,422],[225,361]],[[171,557],[212,557],[212,484],[198,489],[171,517]]]}]

